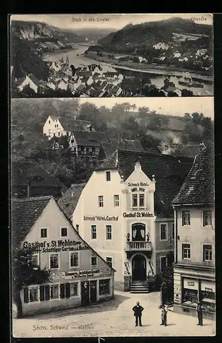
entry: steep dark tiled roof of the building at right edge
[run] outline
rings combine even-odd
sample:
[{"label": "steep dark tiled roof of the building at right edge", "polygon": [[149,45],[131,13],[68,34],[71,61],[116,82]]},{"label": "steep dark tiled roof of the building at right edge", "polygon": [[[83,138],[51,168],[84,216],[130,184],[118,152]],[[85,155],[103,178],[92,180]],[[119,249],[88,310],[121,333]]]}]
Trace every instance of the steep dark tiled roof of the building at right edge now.
[{"label": "steep dark tiled roof of the building at right edge", "polygon": [[214,204],[213,144],[205,147],[196,156],[186,180],[173,200],[173,205],[180,204]]}]

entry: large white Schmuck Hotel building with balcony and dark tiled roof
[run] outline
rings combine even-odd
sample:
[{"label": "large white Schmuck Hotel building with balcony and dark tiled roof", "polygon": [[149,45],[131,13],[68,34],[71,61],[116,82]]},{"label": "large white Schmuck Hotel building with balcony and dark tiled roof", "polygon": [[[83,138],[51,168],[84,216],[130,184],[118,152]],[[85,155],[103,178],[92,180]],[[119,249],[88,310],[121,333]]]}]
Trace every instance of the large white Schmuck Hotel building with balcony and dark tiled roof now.
[{"label": "large white Schmuck Hotel building with balcony and dark tiled roof", "polygon": [[115,289],[158,287],[174,249],[171,201],[192,163],[192,158],[116,150],[79,191],[73,226],[116,270]]}]

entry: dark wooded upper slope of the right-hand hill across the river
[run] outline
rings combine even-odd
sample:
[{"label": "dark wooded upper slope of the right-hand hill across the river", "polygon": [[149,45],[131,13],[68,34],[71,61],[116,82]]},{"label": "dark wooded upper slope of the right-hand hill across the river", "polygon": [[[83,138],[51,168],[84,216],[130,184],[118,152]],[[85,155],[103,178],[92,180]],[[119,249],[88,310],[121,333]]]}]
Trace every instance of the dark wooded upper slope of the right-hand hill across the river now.
[{"label": "dark wooded upper slope of the right-hand hill across the river", "polygon": [[155,44],[160,41],[173,41],[173,33],[211,35],[212,26],[197,24],[191,19],[171,18],[162,21],[150,21],[138,25],[126,25],[117,32],[99,40],[99,45],[139,45]]}]

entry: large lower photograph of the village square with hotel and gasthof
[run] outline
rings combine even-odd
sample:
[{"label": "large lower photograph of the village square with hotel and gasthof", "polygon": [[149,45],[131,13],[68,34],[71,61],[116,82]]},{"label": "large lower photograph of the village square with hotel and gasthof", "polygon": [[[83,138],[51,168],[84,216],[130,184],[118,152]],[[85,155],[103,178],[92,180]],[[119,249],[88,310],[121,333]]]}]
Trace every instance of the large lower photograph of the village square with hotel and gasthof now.
[{"label": "large lower photograph of the village square with hotel and gasthof", "polygon": [[213,97],[10,115],[14,338],[216,335]]}]

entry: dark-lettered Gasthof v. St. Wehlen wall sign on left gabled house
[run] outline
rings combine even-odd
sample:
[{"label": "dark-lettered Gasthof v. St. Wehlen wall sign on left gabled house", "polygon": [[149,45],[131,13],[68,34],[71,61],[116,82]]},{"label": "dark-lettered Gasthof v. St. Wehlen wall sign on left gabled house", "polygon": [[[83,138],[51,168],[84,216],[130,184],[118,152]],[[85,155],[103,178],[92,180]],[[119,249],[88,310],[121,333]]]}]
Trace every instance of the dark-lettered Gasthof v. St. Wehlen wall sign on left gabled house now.
[{"label": "dark-lettered Gasthof v. St. Wehlen wall sign on left gabled house", "polygon": [[72,241],[71,239],[58,239],[57,241],[35,241],[23,242],[23,248],[34,248],[37,252],[60,252],[75,250],[90,250],[83,241]]}]

